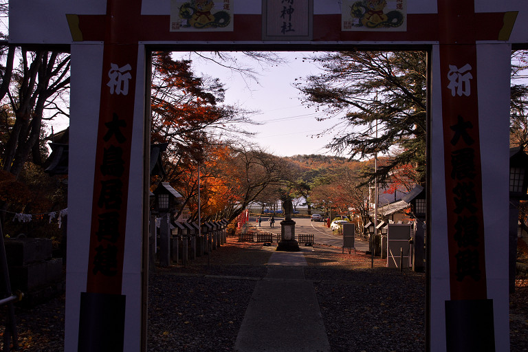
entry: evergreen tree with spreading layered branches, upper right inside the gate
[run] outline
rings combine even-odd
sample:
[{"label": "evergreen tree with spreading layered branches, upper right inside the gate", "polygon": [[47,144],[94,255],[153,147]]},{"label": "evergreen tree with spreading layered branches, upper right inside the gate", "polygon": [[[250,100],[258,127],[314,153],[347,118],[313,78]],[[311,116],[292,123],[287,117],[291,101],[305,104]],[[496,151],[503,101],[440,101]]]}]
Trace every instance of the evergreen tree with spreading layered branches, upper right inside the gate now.
[{"label": "evergreen tree with spreading layered branches, upper right inside the gate", "polygon": [[[390,155],[378,169],[384,180],[391,170],[411,164],[423,182],[426,152],[425,52],[325,52],[311,57],[323,73],[297,88],[305,104],[340,116],[329,147],[351,158]],[[375,176],[369,175],[371,181]]]}]

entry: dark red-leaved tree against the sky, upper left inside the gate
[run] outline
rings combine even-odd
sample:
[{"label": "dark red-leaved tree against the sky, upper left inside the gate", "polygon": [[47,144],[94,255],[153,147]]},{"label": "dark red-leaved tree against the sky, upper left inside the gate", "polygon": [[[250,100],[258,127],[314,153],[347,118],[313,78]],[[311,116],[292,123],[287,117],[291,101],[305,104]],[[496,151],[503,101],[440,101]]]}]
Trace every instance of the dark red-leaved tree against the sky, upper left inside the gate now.
[{"label": "dark red-leaved tree against the sky, upper left inside the gate", "polygon": [[[217,78],[197,77],[191,61],[155,52],[152,60],[151,140],[168,142],[168,152],[200,159],[201,146],[248,133],[250,111],[223,103]],[[176,160],[177,162],[177,160]]]}]

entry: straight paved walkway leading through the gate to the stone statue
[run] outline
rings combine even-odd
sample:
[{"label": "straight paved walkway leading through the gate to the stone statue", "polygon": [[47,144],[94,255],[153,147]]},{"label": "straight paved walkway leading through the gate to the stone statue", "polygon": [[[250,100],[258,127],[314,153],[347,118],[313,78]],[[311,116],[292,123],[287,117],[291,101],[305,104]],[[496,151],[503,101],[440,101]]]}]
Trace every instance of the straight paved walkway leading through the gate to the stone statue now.
[{"label": "straight paved walkway leading through the gate to the stone statue", "polygon": [[236,351],[330,351],[314,285],[305,280],[303,251],[273,252],[245,311]]}]

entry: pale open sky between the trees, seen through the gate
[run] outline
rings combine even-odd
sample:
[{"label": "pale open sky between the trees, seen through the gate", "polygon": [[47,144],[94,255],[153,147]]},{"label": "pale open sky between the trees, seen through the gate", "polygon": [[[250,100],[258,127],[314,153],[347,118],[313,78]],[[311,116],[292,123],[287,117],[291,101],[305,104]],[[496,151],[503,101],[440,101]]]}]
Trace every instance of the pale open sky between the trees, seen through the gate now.
[{"label": "pale open sky between the trees, seen through the gate", "polygon": [[[303,62],[304,54],[281,53],[288,59],[288,64],[259,67],[261,76],[258,84],[254,80],[244,80],[239,74],[215,63],[199,60],[196,56],[190,58],[197,63],[193,68],[195,74],[208,74],[220,78],[225,84],[225,103],[260,111],[253,119],[263,124],[250,126],[249,129],[258,132],[253,141],[266,151],[280,156],[328,154],[325,145],[331,140],[331,135],[316,135],[331,128],[338,120],[317,121],[316,118],[324,117],[325,113],[301,105],[299,91],[293,87],[296,78],[318,72],[314,64]],[[233,55],[240,61],[248,61],[242,54]]]}]

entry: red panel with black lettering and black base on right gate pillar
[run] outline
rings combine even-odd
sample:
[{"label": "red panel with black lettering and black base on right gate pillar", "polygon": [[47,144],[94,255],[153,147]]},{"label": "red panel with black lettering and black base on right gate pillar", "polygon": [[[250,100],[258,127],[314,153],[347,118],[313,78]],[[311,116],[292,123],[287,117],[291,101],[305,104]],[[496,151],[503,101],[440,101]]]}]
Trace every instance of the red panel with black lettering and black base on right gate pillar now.
[{"label": "red panel with black lettering and black base on right gate pillar", "polygon": [[[487,296],[479,132],[479,124],[488,122],[479,111],[474,2],[438,1],[438,11],[450,282],[443,307],[445,344],[447,351],[496,351],[494,300]],[[509,54],[509,45],[498,50]],[[499,54],[497,61],[504,58]],[[498,66],[508,67],[502,61]]]}]

